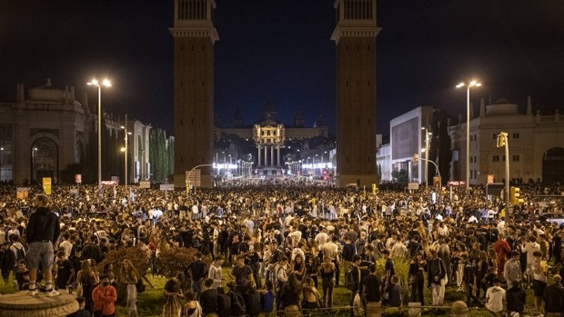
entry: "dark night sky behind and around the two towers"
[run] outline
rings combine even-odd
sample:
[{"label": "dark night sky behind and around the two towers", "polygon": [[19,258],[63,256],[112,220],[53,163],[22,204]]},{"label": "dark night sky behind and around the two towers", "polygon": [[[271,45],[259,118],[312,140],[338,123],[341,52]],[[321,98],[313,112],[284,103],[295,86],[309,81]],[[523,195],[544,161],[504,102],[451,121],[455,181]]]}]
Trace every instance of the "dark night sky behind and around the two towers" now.
[{"label": "dark night sky behind and around the two towers", "polygon": [[[236,107],[246,124],[270,99],[278,117],[335,126],[333,0],[216,0],[215,107],[223,125]],[[96,94],[109,77],[106,111],[172,130],[172,0],[0,0],[0,96],[51,77]],[[479,97],[535,108],[564,101],[564,1],[378,0],[378,133],[419,105],[465,114],[461,80]],[[4,98],[5,99],[5,98]]]}]

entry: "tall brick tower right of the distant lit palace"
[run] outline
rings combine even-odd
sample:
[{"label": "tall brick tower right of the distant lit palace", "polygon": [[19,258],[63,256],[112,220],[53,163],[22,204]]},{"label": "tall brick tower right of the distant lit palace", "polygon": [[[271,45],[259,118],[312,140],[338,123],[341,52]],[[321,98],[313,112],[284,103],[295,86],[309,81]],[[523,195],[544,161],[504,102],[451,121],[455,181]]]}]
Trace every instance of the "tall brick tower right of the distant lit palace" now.
[{"label": "tall brick tower right of the distant lit palace", "polygon": [[337,0],[337,186],[378,183],[376,0]]}]

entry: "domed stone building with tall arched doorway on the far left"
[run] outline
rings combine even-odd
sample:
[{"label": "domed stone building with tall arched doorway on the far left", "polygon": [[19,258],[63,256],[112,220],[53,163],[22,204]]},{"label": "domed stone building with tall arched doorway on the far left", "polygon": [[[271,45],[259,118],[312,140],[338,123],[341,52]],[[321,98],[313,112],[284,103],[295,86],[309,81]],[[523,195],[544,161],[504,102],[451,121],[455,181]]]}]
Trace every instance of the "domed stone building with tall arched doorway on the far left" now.
[{"label": "domed stone building with tall arched doorway on the far left", "polygon": [[[88,107],[86,94],[82,100],[76,99],[73,86],[59,89],[50,79],[27,94],[24,84],[17,84],[14,100],[0,101],[0,181],[21,185],[50,177],[57,183],[67,166],[85,164],[88,151],[97,151],[97,115]],[[103,122],[109,138],[123,145],[125,141],[117,138],[125,122],[109,114],[104,114]],[[126,125],[132,133],[128,182],[135,183],[148,177],[151,127],[136,120]],[[107,144],[103,147],[107,149]]]}]

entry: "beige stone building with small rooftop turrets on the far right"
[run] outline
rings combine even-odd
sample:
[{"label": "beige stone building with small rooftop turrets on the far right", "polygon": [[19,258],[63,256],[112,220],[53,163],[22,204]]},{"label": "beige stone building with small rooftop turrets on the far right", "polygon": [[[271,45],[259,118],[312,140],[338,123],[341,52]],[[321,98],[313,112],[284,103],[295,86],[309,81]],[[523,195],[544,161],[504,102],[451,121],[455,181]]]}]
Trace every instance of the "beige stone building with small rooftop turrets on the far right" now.
[{"label": "beige stone building with small rooftop turrets on the far right", "polygon": [[[459,120],[460,121],[460,120]],[[450,126],[454,180],[466,177],[466,125]],[[509,158],[497,147],[500,132],[508,133]],[[533,114],[529,97],[525,114],[519,104],[499,99],[485,105],[481,100],[479,116],[470,118],[470,183],[485,184],[488,175],[495,182],[506,179],[505,163],[509,159],[509,179],[523,182],[555,182],[564,179],[564,118],[559,110]]]}]

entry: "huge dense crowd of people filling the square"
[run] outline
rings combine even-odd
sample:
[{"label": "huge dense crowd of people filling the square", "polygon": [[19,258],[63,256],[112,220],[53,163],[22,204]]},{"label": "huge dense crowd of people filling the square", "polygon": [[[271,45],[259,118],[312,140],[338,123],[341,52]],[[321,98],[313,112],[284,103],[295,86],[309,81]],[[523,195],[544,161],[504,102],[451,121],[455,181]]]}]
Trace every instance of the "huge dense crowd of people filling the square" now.
[{"label": "huge dense crowd of people filling the square", "polygon": [[[307,313],[332,307],[338,287],[350,293],[351,316],[407,302],[442,307],[447,287],[498,315],[564,312],[564,227],[538,221],[540,213],[562,213],[559,197],[549,196],[561,187],[520,187],[525,203],[509,213],[482,187],[466,195],[291,182],[196,193],[135,186],[98,193],[86,185],[56,186],[48,197],[32,187],[18,199],[15,187],[0,186],[0,271],[5,281],[13,272],[34,296],[74,289],[84,313],[76,316],[113,315],[118,285],[126,287],[128,315],[137,315],[146,272],[129,260],[95,269],[106,253],[133,246],[149,254],[153,274],[164,250],[197,249],[196,261],[168,276],[164,316]],[[525,307],[527,296],[534,307]]]}]

